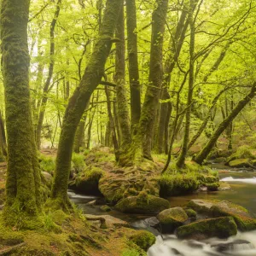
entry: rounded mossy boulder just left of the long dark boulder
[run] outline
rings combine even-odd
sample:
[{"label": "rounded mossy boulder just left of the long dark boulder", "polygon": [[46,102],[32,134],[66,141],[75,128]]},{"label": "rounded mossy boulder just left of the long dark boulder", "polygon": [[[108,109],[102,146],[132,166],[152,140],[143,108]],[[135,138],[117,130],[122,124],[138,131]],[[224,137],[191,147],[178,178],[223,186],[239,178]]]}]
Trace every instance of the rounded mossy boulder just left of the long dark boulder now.
[{"label": "rounded mossy boulder just left of the long dark boulder", "polygon": [[182,207],[166,209],[157,215],[163,233],[172,233],[186,222],[189,217]]}]

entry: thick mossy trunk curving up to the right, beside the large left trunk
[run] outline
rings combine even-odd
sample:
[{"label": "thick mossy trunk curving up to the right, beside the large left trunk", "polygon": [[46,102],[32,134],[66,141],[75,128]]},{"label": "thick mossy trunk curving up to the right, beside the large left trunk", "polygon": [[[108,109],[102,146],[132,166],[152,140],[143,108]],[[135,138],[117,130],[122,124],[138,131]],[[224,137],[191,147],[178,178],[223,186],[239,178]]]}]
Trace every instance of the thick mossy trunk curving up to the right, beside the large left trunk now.
[{"label": "thick mossy trunk curving up to the right, beside the large left trunk", "polygon": [[67,183],[71,168],[73,141],[84,109],[90,101],[90,96],[104,75],[104,67],[113,43],[113,32],[119,18],[122,0],[108,0],[102,20],[99,38],[85,68],[79,87],[70,97],[65,111],[58,153],[56,157],[55,177],[52,189],[52,199],[57,207],[67,209]]}]

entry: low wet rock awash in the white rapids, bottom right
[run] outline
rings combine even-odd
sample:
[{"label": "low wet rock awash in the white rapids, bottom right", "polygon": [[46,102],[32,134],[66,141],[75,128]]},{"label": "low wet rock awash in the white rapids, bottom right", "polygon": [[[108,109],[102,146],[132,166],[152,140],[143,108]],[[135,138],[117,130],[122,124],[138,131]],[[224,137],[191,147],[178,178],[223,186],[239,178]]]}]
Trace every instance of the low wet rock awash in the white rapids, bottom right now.
[{"label": "low wet rock awash in the white rapids, bottom right", "polygon": [[249,250],[254,249],[255,247],[253,244],[249,241],[245,240],[236,240],[232,242],[226,242],[226,243],[219,243],[217,245],[212,245],[213,248],[216,249],[219,253],[227,252],[227,251],[237,251],[239,249]]}]

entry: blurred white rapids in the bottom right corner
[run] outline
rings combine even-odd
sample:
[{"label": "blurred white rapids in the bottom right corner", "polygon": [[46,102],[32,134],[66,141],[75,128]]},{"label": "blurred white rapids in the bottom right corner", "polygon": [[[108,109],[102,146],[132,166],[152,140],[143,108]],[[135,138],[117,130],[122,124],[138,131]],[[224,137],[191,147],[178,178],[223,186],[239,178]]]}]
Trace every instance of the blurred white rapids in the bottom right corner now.
[{"label": "blurred white rapids in the bottom right corner", "polygon": [[[250,243],[236,244],[237,240]],[[234,242],[229,250],[219,253],[218,245]],[[153,247],[148,249],[148,256],[256,256],[256,231],[239,233],[237,236],[223,240],[211,238],[207,241],[178,240],[174,235],[157,236]]]}]

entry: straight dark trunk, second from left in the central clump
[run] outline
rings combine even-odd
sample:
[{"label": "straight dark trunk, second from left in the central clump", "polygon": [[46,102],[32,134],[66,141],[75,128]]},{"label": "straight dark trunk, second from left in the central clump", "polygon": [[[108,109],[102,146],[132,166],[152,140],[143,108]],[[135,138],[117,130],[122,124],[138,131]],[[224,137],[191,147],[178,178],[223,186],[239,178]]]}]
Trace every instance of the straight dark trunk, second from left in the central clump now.
[{"label": "straight dark trunk, second from left in the central clump", "polygon": [[141,89],[137,58],[137,13],[136,1],[126,1],[127,49],[129,60],[129,79],[131,90],[131,131],[137,132],[141,117]]}]

